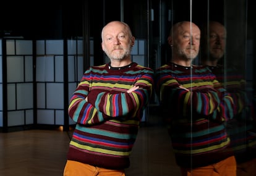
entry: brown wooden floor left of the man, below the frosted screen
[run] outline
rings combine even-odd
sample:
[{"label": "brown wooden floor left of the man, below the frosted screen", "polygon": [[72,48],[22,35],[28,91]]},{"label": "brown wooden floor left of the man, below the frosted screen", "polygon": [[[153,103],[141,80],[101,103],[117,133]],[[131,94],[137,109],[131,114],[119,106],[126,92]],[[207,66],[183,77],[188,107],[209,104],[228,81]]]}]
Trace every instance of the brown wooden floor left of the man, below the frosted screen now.
[{"label": "brown wooden floor left of the man, below the frosted screen", "polygon": [[0,133],[0,175],[62,175],[69,143],[67,132],[25,130]]}]

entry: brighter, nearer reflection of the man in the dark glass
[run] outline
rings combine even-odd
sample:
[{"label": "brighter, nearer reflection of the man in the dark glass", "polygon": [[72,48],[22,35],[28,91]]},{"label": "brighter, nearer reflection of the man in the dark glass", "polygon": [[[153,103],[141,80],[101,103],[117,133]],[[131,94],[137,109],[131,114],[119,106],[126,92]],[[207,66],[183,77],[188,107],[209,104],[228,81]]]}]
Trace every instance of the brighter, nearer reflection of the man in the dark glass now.
[{"label": "brighter, nearer reflection of the man in the dark glass", "polygon": [[236,175],[225,122],[233,118],[231,96],[207,67],[193,65],[200,29],[192,22],[173,25],[168,37],[171,62],[156,69],[156,94],[166,113],[176,163],[182,175]]}]

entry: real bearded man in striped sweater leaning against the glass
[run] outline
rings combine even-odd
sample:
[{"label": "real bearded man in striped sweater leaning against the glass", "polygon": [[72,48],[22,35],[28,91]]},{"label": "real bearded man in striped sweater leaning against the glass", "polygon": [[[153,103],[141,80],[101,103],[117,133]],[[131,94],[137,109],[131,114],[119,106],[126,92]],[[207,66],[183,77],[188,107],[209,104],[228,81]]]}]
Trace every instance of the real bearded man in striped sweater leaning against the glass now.
[{"label": "real bearded man in striped sweater leaning against the glass", "polygon": [[125,175],[151,97],[153,70],[132,62],[129,26],[109,22],[101,38],[110,62],[86,70],[70,99],[69,115],[77,124],[64,175]]}]

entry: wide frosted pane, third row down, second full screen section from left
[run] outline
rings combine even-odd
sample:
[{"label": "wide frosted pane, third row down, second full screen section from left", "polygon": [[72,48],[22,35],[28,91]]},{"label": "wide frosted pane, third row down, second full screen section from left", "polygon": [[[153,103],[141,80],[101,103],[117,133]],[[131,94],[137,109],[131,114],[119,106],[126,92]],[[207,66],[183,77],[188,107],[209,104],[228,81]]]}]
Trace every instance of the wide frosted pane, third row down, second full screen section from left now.
[{"label": "wide frosted pane, third row down, second full screen section from left", "polygon": [[48,109],[64,108],[64,84],[63,83],[47,83],[46,84],[46,107]]}]

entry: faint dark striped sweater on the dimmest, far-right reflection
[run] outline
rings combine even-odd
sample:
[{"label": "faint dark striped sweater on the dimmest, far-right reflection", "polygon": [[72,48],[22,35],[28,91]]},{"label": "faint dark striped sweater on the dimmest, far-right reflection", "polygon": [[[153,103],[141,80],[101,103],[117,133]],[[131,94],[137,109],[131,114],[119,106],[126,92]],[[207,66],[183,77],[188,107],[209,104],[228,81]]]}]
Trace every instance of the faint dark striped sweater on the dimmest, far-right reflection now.
[{"label": "faint dark striped sweater on the dimmest, far-right reflection", "polygon": [[[249,92],[245,89],[245,80],[239,70],[234,67],[224,68],[223,65],[208,67],[237,101],[239,113],[233,120],[228,121],[227,130],[237,163],[247,161],[255,157],[256,136],[250,133],[255,131],[255,119],[253,119],[252,103],[247,97]],[[252,149],[254,149],[254,153],[252,153]]]}]

